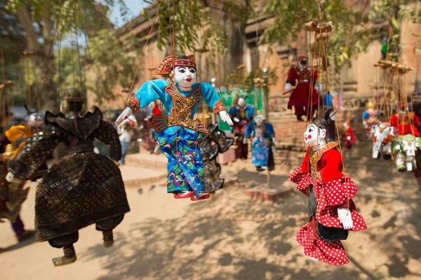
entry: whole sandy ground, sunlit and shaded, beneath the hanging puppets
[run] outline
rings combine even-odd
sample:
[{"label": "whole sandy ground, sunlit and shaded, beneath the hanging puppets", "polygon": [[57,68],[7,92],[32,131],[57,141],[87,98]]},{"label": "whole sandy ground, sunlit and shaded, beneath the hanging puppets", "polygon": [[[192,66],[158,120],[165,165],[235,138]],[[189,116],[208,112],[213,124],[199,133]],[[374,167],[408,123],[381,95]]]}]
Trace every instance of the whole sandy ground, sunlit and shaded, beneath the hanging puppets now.
[{"label": "whole sandy ground, sunlit and shaded, beneath the hanging puppets", "polygon": [[[244,188],[261,185],[248,162],[224,167],[239,176],[210,200],[173,200],[163,186],[128,188],[131,212],[115,230],[112,248],[102,246],[94,226],[79,232],[77,262],[53,267],[62,254],[34,239],[17,244],[10,223],[0,224],[0,279],[421,279],[421,193],[413,174],[398,174],[393,162],[352,158],[347,174],[360,191],[356,207],[368,230],[344,241],[351,263],[331,267],[301,253],[295,241],[307,221],[304,195],[256,202]],[[294,167],[279,166],[274,186],[290,186]],[[124,176],[124,174],[123,174]],[[22,220],[34,228],[34,191],[23,205]]]}]

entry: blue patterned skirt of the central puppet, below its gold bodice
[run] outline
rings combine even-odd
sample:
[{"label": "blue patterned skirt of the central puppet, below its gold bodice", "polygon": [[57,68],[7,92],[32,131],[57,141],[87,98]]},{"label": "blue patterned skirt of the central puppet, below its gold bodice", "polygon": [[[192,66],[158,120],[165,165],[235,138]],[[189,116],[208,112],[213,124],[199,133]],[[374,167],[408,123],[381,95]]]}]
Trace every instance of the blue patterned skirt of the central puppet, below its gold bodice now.
[{"label": "blue patterned skirt of the central puppet, below its gold bodice", "polygon": [[154,139],[168,158],[167,193],[192,191],[196,197],[203,190],[203,161],[199,143],[203,134],[177,127],[154,132]]}]

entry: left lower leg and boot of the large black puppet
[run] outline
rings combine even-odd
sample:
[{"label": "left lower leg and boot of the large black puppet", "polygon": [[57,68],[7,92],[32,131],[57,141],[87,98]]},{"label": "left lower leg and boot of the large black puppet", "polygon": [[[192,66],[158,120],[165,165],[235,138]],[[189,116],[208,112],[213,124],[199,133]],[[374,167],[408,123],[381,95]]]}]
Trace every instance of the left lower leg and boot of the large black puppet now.
[{"label": "left lower leg and boot of the large black puppet", "polygon": [[69,265],[76,261],[76,253],[74,251],[73,244],[79,239],[79,232],[73,232],[69,235],[57,237],[55,239],[48,240],[51,246],[54,248],[63,248],[65,255],[60,258],[53,258],[53,264],[56,267],[62,265]]}]

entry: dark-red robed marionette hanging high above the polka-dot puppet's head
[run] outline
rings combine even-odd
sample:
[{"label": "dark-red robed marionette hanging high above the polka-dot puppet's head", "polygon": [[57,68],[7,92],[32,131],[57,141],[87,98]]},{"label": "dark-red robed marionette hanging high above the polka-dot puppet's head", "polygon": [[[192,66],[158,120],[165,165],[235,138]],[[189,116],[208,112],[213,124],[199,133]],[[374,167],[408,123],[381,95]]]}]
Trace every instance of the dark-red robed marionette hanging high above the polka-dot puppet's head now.
[{"label": "dark-red robed marionette hanging high above the polka-dot puppet's head", "polygon": [[[321,98],[316,90],[317,71],[312,69],[308,64],[308,59],[305,56],[297,58],[298,64],[293,65],[288,73],[285,89],[291,92],[288,109],[294,106],[295,116],[299,122],[302,121],[302,116],[307,116],[307,120],[311,120],[316,111]],[[298,81],[298,84],[297,84]],[[293,90],[290,90],[291,85],[297,85]],[[312,87],[314,85],[314,88]],[[287,94],[285,92],[283,94]]]}]

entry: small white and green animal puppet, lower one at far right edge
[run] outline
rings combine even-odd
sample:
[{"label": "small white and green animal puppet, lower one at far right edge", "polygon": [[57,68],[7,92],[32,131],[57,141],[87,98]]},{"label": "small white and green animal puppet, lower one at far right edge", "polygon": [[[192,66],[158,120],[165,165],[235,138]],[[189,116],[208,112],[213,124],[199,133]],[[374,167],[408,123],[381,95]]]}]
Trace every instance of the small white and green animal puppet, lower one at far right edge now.
[{"label": "small white and green animal puppet, lower one at far right edge", "polygon": [[415,161],[415,152],[421,148],[421,138],[414,137],[413,134],[400,135],[394,144],[392,150],[396,168],[399,172],[416,172],[417,162]]}]

